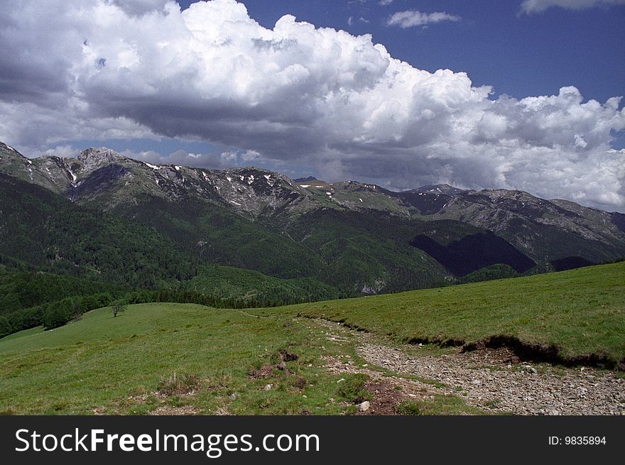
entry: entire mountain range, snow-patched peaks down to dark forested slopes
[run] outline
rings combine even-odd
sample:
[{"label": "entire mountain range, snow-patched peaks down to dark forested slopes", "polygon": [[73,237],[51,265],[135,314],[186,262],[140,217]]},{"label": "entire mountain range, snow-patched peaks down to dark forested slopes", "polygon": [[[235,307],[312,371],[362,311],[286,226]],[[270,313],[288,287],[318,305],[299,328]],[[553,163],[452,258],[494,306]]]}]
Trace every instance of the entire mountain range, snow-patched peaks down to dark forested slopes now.
[{"label": "entire mountain range, snow-patched peaks down to dark forested slopes", "polygon": [[[0,263],[131,288],[353,297],[625,257],[625,214],[516,190],[292,180],[0,143]],[[249,288],[249,283],[260,283]],[[305,290],[304,292],[302,290]]]}]

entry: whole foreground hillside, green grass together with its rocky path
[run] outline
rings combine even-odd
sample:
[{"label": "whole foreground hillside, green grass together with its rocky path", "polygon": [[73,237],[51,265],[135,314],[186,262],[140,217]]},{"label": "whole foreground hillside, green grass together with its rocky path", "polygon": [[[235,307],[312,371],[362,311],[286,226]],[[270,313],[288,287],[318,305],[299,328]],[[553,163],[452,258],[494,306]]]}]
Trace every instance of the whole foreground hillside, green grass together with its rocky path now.
[{"label": "whole foreground hillside, green grass together with its rocky path", "polygon": [[[337,414],[357,412],[355,405],[363,398],[369,398],[371,408],[379,412],[385,411],[388,403],[395,407],[386,412],[425,414],[506,409],[534,412],[528,410],[534,403],[536,409],[543,408],[541,400],[515,403],[514,395],[497,401],[488,396],[478,400],[484,389],[471,380],[496,378],[498,383],[508,383],[511,392],[529,389],[531,380],[560,383],[562,379],[574,389],[587,389],[587,398],[572,398],[568,403],[565,396],[553,400],[553,408],[562,405],[562,412],[579,413],[581,408],[603,412],[602,405],[607,405],[605,412],[609,413],[614,402],[618,405],[621,401],[624,381],[609,373],[592,368],[582,371],[582,375],[592,376],[592,388],[588,384],[591,378],[580,375],[579,369],[557,368],[560,374],[556,376],[550,374],[555,370],[550,366],[528,365],[538,351],[519,351],[523,363],[513,361],[514,357],[512,362],[477,362],[487,356],[480,355],[484,351],[460,354],[460,348],[420,347],[417,343],[430,339],[459,344],[461,340],[471,343],[506,336],[535,349],[553,347],[559,359],[571,363],[623,363],[624,278],[625,263],[615,263],[246,312],[143,304],[132,305],[115,318],[104,308],[53,331],[31,329],[0,339],[0,410]],[[322,319],[343,321],[370,333],[348,332]],[[404,346],[401,341],[412,345]],[[371,344],[376,344],[375,353],[366,350]],[[376,358],[375,354],[383,355]],[[406,363],[423,363],[423,369],[414,372],[422,374],[411,375],[413,368],[384,359],[394,356],[401,356]],[[426,366],[459,361],[464,363],[462,372],[472,373],[467,384],[460,379],[442,379],[440,373],[432,373],[429,376],[434,378],[429,379],[423,376]],[[493,366],[471,368],[474,363]],[[506,363],[513,365],[506,368]],[[533,371],[528,371],[530,368]],[[455,368],[454,373],[460,369]],[[341,379],[344,381],[337,383]],[[347,383],[344,388],[342,383]],[[596,386],[606,389],[596,394],[604,396],[598,402],[593,397],[599,389]],[[397,410],[398,405],[404,410]]]}]

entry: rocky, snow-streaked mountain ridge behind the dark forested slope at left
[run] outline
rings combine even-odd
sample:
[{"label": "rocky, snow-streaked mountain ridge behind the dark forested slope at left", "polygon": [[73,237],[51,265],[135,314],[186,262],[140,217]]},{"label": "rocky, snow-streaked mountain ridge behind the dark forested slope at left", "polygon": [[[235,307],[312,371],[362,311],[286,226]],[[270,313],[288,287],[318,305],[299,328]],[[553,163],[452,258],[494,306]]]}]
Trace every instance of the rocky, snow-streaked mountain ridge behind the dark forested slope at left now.
[{"label": "rocky, snow-streaked mountain ridge behind the dark forested slope at left", "polygon": [[[468,263],[505,264],[509,246],[527,258],[519,258],[522,263],[535,263],[540,270],[553,269],[553,261],[561,266],[625,256],[625,215],[519,190],[462,190],[443,184],[393,192],[353,180],[293,180],[254,166],[208,170],[154,165],[109,148],[87,148],[75,158],[28,159],[6,144],[0,145],[0,172],[75,204],[143,221],[183,244],[201,263],[217,261],[281,278],[308,276],[312,268],[329,266],[335,276],[351,275],[346,295],[442,283],[452,279],[445,273],[477,271]],[[234,225],[237,231],[232,231]],[[418,236],[425,237],[416,240]],[[500,239],[509,246],[499,244]],[[455,266],[452,261],[461,260],[462,253],[472,253],[462,244],[480,244],[480,253],[495,247],[504,255],[467,257],[467,266]],[[450,256],[442,249],[448,246],[456,251]],[[292,258],[272,264],[271,253],[280,255],[283,247],[316,264],[303,275],[284,268],[286,263],[301,268]],[[265,264],[250,261],[242,250],[263,252]],[[435,250],[440,263],[431,255]],[[398,263],[403,263],[401,270]],[[357,271],[348,273],[347,268]]]}]

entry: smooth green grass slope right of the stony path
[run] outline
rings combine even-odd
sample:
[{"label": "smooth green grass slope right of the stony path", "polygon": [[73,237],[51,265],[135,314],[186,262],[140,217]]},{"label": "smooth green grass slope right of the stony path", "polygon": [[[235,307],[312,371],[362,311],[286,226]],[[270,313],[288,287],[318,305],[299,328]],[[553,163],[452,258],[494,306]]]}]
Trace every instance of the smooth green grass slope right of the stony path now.
[{"label": "smooth green grass slope right of the stony path", "polygon": [[625,262],[290,308],[402,342],[503,335],[565,359],[625,357]]}]

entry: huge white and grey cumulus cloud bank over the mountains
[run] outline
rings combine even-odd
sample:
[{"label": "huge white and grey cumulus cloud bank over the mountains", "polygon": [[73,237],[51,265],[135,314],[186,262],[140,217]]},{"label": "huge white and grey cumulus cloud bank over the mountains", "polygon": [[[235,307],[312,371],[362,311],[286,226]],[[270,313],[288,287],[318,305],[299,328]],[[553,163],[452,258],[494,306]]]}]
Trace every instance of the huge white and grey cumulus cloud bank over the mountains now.
[{"label": "huge white and grey cumulus cloud bank over the mountains", "polygon": [[6,0],[0,140],[27,154],[85,139],[207,141],[219,150],[165,158],[625,210],[625,155],[609,152],[625,129],[620,97],[585,101],[562,87],[494,99],[466,73],[420,70],[370,35],[293,16],[264,28],[234,0],[141,4]]}]

